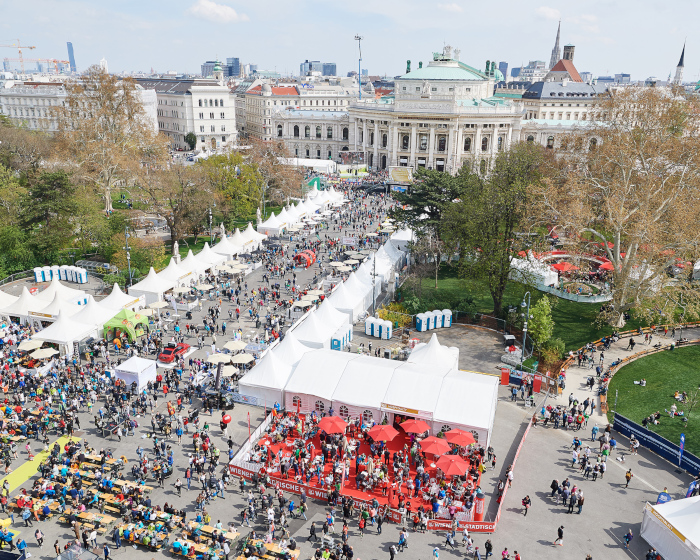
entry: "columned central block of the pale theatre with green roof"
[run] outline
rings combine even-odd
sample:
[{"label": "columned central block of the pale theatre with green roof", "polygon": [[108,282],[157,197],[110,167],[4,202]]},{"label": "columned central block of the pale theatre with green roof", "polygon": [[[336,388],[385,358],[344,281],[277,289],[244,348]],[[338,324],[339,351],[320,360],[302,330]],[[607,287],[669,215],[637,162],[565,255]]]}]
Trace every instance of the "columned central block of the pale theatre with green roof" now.
[{"label": "columned central block of the pale theatre with green roof", "polygon": [[459,60],[451,47],[396,79],[393,96],[354,100],[349,109],[353,151],[372,167],[426,167],[456,173],[464,164],[486,172],[519,137],[519,101],[493,96],[503,76]]}]

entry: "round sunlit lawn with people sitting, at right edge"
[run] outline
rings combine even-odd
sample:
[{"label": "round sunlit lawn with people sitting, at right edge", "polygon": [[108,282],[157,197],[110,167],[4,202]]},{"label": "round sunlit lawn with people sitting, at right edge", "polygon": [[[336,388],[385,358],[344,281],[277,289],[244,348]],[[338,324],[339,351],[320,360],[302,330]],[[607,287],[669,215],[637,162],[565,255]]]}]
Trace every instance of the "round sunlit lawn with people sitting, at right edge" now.
[{"label": "round sunlit lawn with people sitting, at right edge", "polygon": [[[695,394],[700,385],[699,360],[700,346],[688,346],[652,354],[620,368],[612,378],[608,391],[609,421],[613,419],[612,409],[617,391],[617,412],[638,424],[652,412],[661,412],[661,422],[650,426],[650,429],[676,445],[681,432],[684,432],[686,449],[700,455],[700,407],[696,405],[687,423],[681,417],[664,415],[664,409],[669,409],[676,402],[673,399],[675,391],[686,391],[690,397]],[[641,378],[647,380],[646,387],[633,383]],[[689,404],[676,403],[676,406],[678,412],[683,410],[688,414]]]}]

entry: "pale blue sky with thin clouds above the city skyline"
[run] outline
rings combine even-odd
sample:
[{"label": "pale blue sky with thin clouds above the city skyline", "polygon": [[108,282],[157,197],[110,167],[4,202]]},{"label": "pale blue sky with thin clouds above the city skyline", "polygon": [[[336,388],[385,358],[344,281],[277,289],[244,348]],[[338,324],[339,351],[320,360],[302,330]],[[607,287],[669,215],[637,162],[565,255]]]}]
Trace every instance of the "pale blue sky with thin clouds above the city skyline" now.
[{"label": "pale blue sky with thin clouds above the city skyline", "polygon": [[[305,59],[395,76],[427,63],[444,45],[477,68],[549,62],[558,21],[561,45],[594,76],[666,79],[683,42],[685,80],[700,79],[700,3],[690,0],[0,0],[0,45],[36,46],[24,57],[67,59],[78,70],[104,57],[110,72],[198,73],[205,60],[238,57],[261,70],[298,74]],[[17,57],[0,48],[0,57]]]}]

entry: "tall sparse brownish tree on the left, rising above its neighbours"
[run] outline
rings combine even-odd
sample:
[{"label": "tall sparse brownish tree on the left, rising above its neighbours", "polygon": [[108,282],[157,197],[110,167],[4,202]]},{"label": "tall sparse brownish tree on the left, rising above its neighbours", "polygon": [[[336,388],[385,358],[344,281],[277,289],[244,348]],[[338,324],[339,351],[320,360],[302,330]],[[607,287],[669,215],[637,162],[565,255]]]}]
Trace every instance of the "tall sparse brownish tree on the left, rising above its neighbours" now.
[{"label": "tall sparse brownish tree on the left, rising above its neighbours", "polygon": [[77,167],[76,175],[93,185],[112,211],[112,189],[129,186],[146,162],[167,161],[167,140],[146,116],[139,90],[91,66],[80,81],[66,85],[66,101],[56,108],[59,158]]}]

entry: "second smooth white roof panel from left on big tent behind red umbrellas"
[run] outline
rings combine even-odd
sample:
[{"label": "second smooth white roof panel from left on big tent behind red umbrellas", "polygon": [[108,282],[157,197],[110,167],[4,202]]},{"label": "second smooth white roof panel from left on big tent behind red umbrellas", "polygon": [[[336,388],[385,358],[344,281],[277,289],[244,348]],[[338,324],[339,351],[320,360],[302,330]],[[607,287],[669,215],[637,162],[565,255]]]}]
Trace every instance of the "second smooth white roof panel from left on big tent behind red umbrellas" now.
[{"label": "second smooth white roof panel from left on big tent behind red umbrellas", "polygon": [[345,367],[333,392],[333,401],[379,409],[394,372],[402,365],[398,360],[359,356]]}]

